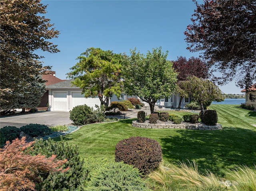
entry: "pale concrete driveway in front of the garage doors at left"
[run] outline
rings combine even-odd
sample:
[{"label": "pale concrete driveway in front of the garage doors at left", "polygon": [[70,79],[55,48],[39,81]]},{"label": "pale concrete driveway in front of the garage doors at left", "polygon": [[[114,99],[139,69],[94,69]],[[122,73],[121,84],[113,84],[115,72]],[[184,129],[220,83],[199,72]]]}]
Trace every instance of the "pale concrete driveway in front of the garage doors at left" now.
[{"label": "pale concrete driveway in front of the garage doors at left", "polygon": [[19,128],[30,123],[56,126],[71,124],[72,120],[69,119],[69,112],[59,111],[39,111],[30,114],[0,118],[0,128],[3,128],[4,126],[16,126]]}]

